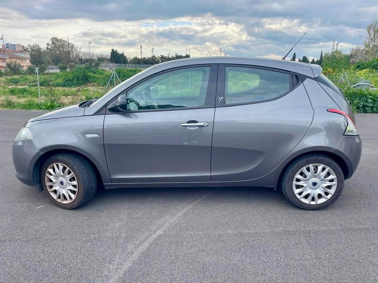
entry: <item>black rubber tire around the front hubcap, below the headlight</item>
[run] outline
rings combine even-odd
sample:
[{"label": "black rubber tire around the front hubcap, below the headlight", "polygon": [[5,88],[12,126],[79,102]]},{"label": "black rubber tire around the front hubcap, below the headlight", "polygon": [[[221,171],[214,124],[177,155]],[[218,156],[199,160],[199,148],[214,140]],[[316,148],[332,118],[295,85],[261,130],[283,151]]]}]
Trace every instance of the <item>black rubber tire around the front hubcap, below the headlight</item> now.
[{"label": "black rubber tire around the front hubcap, below the headlight", "polygon": [[[47,168],[53,163],[67,165],[76,176],[77,195],[70,203],[61,203],[60,201],[55,200],[46,188],[45,173]],[[93,166],[81,155],[73,153],[59,153],[47,158],[41,170],[41,183],[43,191],[48,198],[57,206],[64,209],[74,209],[84,205],[94,197],[97,189],[97,177]]]}]

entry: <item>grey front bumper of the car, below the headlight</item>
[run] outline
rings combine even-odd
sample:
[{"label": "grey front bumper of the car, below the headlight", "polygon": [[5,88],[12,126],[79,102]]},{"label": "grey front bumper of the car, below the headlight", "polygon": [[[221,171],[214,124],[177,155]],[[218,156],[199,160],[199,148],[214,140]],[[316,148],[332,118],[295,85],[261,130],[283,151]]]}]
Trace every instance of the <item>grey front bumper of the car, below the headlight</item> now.
[{"label": "grey front bumper of the car, below the headlight", "polygon": [[22,183],[35,186],[33,179],[33,167],[37,159],[42,155],[33,143],[33,140],[15,141],[12,146],[12,157],[15,176]]}]

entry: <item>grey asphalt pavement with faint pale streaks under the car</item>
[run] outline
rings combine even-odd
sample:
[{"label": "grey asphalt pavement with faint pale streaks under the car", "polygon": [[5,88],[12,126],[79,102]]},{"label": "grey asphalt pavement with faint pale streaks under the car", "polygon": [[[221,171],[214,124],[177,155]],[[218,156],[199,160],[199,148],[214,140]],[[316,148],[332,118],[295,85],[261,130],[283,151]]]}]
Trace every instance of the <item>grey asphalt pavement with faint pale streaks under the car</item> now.
[{"label": "grey asphalt pavement with faint pale streaks under the car", "polygon": [[100,190],[68,211],[14,176],[11,148],[41,111],[0,111],[0,282],[377,282],[378,114],[321,211],[265,188]]}]

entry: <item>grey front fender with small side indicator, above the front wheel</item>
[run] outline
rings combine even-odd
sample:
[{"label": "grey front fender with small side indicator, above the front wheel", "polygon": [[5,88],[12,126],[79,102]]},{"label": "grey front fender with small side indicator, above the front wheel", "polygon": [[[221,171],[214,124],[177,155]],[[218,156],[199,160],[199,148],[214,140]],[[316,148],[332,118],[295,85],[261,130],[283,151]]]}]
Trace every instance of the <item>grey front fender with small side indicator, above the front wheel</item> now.
[{"label": "grey front fender with small side indicator, above the front wheel", "polygon": [[[32,122],[28,125],[37,149],[48,152],[67,149],[90,159],[101,174],[104,183],[110,183],[105,159],[103,125],[105,115],[67,117]],[[98,135],[86,137],[86,134]]]}]

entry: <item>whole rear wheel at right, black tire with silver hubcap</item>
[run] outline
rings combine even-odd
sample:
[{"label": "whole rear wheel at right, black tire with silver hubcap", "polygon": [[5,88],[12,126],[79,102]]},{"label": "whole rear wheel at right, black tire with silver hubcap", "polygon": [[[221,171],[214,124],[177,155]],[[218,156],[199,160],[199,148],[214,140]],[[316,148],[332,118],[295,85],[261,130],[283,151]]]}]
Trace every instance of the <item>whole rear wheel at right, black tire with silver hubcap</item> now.
[{"label": "whole rear wheel at right, black tire with silver hubcap", "polygon": [[344,188],[340,166],[325,155],[311,154],[293,161],[282,176],[282,192],[299,208],[317,210],[332,205]]}]

